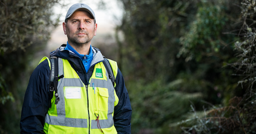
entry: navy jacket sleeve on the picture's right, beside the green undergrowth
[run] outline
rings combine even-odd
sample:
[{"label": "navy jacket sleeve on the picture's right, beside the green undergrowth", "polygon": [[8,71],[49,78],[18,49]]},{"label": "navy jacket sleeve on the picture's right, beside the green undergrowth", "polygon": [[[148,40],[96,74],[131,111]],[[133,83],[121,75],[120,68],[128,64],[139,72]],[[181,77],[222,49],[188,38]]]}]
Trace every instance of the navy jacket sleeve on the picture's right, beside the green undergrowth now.
[{"label": "navy jacket sleeve on the picture's right, beside the green undergrowth", "polygon": [[116,76],[116,86],[119,102],[114,108],[114,126],[118,134],[131,134],[132,107],[123,75],[119,69]]}]

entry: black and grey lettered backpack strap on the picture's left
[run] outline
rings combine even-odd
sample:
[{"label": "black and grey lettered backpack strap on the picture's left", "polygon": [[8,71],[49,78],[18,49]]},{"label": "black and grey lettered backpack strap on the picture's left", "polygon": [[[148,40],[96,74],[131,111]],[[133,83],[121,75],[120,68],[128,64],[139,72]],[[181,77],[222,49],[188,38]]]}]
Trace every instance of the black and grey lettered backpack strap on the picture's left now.
[{"label": "black and grey lettered backpack strap on the picture's left", "polygon": [[51,56],[51,74],[50,74],[50,92],[53,93],[55,91],[54,95],[56,97],[55,104],[60,101],[60,97],[58,97],[58,80],[63,78],[64,75],[58,76],[58,57],[56,56]]}]

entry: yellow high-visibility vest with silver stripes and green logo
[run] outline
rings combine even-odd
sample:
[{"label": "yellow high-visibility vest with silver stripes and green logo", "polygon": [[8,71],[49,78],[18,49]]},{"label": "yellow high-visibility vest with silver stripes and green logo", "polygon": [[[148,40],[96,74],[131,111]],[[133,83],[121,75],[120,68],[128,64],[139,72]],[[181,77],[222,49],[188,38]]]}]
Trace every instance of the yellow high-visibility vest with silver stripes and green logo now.
[{"label": "yellow high-visibility vest with silver stripes and green logo", "polygon": [[[44,61],[43,58],[40,62]],[[114,77],[118,66],[109,60]],[[49,64],[50,65],[50,64]],[[89,85],[84,85],[76,71],[66,59],[58,58],[59,76],[58,97],[51,99],[52,106],[45,117],[44,132],[46,134],[117,134],[114,127],[114,106],[118,97],[108,78],[102,62],[94,66]]]}]

